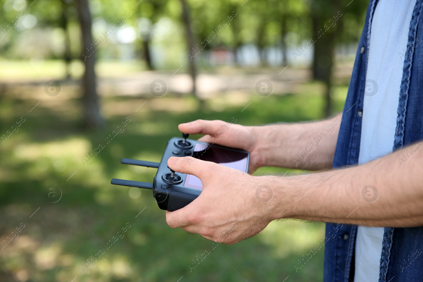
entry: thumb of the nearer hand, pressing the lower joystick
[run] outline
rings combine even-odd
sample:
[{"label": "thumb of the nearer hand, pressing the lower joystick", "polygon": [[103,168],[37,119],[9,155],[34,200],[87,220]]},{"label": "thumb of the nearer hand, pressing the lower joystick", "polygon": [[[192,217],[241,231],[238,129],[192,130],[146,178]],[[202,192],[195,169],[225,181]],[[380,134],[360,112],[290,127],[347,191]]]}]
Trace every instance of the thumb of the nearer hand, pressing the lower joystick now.
[{"label": "thumb of the nearer hand, pressing the lower joystick", "polygon": [[206,178],[211,171],[216,171],[214,162],[206,162],[193,157],[170,157],[168,166],[176,172],[192,174],[200,179]]}]

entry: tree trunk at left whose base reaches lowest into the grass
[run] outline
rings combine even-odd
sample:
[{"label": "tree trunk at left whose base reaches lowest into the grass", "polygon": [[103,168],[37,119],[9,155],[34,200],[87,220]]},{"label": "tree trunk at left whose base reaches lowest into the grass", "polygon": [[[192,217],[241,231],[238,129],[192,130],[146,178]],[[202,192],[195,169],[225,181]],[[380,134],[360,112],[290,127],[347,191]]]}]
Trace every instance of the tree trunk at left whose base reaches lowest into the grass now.
[{"label": "tree trunk at left whose base reaches lowest into the grass", "polygon": [[82,77],[84,93],[82,95],[83,115],[88,127],[101,126],[103,118],[100,115],[99,97],[97,95],[97,83],[95,73],[96,47],[93,45],[91,34],[91,14],[88,7],[88,0],[78,0],[78,18],[80,20],[82,32],[82,61],[85,65],[85,73]]}]

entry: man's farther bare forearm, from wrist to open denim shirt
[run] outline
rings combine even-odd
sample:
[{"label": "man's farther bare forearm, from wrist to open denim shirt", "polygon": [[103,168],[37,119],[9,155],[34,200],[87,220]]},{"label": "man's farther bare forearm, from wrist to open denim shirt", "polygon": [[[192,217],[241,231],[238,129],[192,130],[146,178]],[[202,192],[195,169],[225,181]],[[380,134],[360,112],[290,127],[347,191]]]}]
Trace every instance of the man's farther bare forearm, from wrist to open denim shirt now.
[{"label": "man's farther bare forearm, from wrist to open denim shirt", "polygon": [[320,170],[332,167],[341,115],[314,123],[253,128],[263,166]]}]

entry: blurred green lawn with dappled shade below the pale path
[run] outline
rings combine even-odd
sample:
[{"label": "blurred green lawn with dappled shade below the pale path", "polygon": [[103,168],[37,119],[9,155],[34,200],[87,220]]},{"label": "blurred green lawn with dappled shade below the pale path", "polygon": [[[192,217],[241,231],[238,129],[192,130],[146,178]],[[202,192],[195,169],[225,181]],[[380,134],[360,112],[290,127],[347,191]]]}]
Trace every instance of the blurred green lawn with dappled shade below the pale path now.
[{"label": "blurred green lawn with dappled shade below the pale path", "polygon": [[[335,110],[339,111],[346,87],[335,90]],[[180,135],[177,125],[182,122],[235,117],[236,123],[259,125],[322,118],[323,100],[315,93],[266,98],[245,95],[246,102],[240,103],[222,94],[206,101],[209,110],[200,110],[195,99],[168,94],[147,99],[137,112],[146,99],[108,98],[102,101],[104,108],[121,103],[126,112],[104,112],[107,124],[95,130],[81,130],[84,121],[66,102],[41,102],[29,112],[38,101],[0,98],[0,134],[21,116],[26,119],[19,131],[0,145],[0,239],[25,223],[19,237],[0,251],[0,280],[30,281],[32,277],[37,282],[70,282],[77,276],[75,282],[176,282],[181,277],[180,282],[251,282],[283,281],[289,276],[286,281],[321,281],[323,249],[297,272],[294,266],[324,238],[322,223],[276,221],[253,238],[233,246],[220,244],[212,250],[211,242],[199,235],[168,227],[165,211],[157,207],[151,191],[143,190],[139,196],[137,189],[110,184],[111,178],[151,181],[154,169],[125,166],[120,164],[121,156],[158,162],[166,142]],[[157,110],[163,105],[170,110]],[[76,110],[80,112],[79,107]],[[84,166],[81,159],[85,153],[103,142],[127,116],[132,120],[125,131]],[[284,172],[275,167],[258,170]],[[55,189],[50,190],[52,187]],[[62,197],[51,203],[59,199],[57,187]],[[105,249],[103,244],[126,222],[131,227],[124,238],[84,272],[82,263]],[[192,260],[205,249],[211,253],[190,272]]]}]

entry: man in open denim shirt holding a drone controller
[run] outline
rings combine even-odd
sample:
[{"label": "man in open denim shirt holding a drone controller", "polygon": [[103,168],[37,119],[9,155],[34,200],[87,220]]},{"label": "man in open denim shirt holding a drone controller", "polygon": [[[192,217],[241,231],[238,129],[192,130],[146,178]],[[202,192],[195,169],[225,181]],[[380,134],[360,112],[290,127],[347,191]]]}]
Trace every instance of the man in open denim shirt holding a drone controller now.
[{"label": "man in open denim shirt holding a drone controller", "polygon": [[[324,221],[324,281],[421,281],[422,6],[422,0],[370,1],[342,116],[316,123],[233,124],[217,139],[250,151],[250,172],[261,166],[338,169],[253,177],[172,157],[169,167],[199,177],[203,192],[167,212],[170,227],[234,244],[274,219]],[[213,142],[225,124],[196,120],[179,129]],[[271,200],[255,196],[263,187]],[[236,228],[230,228],[233,222]]]}]

